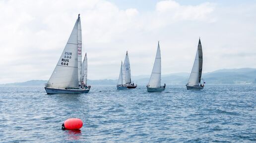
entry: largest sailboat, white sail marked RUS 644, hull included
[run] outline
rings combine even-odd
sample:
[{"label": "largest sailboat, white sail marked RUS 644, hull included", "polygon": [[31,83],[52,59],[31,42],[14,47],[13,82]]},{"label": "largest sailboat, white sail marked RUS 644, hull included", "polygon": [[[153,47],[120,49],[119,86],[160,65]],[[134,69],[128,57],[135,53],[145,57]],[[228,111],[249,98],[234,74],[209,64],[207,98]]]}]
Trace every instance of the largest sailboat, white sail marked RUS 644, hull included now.
[{"label": "largest sailboat, white sail marked RUS 644, hull included", "polygon": [[45,84],[47,94],[88,93],[81,84],[82,37],[80,14],[65,45],[64,51]]}]

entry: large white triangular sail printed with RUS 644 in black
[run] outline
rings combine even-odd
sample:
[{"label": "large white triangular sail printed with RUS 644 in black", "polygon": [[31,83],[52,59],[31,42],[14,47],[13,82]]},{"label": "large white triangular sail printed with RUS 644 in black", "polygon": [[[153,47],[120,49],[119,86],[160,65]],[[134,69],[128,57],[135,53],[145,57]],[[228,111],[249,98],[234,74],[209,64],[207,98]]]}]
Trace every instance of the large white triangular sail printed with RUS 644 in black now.
[{"label": "large white triangular sail printed with RUS 644 in black", "polygon": [[78,87],[77,40],[78,20],[75,22],[59,62],[47,83],[47,87]]}]

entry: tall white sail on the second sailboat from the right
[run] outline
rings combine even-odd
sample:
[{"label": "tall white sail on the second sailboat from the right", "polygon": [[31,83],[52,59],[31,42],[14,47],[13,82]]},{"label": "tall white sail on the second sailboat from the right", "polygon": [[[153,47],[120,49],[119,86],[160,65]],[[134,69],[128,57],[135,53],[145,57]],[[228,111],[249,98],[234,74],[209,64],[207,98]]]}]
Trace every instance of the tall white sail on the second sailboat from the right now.
[{"label": "tall white sail on the second sailboat from the right", "polygon": [[153,70],[148,82],[148,87],[159,88],[161,86],[161,51],[158,42]]}]

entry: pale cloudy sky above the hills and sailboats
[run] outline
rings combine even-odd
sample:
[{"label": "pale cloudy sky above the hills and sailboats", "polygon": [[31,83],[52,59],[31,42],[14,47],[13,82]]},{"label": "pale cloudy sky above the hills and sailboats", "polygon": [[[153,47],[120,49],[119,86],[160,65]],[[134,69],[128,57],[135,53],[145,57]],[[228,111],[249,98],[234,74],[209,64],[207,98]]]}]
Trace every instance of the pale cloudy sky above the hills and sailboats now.
[{"label": "pale cloudy sky above the hills and sailboats", "polygon": [[[78,13],[89,79],[191,72],[200,37],[203,72],[256,68],[255,0],[0,0],[0,83],[48,80]],[[202,75],[203,76],[203,75]]]}]

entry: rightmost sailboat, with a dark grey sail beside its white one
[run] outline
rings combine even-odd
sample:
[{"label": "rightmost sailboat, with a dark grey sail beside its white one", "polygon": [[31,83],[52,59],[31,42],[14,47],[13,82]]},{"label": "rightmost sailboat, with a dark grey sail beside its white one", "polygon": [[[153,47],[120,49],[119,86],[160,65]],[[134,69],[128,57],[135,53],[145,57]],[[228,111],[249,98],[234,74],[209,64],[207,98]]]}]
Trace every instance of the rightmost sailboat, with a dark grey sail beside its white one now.
[{"label": "rightmost sailboat, with a dark grey sail beside its white one", "polygon": [[203,55],[202,55],[202,45],[199,38],[198,47],[194,59],[193,68],[190,74],[190,78],[188,83],[186,84],[187,89],[203,89],[204,83],[201,84],[201,75],[202,75],[202,62],[203,62]]}]

